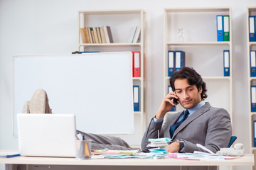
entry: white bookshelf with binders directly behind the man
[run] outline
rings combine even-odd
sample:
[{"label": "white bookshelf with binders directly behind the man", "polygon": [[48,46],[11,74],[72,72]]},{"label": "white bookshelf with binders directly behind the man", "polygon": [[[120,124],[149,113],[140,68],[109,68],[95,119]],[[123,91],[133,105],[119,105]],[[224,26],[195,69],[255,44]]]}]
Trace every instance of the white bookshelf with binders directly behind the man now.
[{"label": "white bookshelf with binders directly behind the man", "polygon": [[[217,40],[217,15],[229,15],[230,40]],[[182,38],[179,33],[183,31]],[[206,82],[211,106],[233,113],[232,15],[231,8],[164,9],[164,96],[169,91],[169,50],[185,52],[185,66],[193,67]],[[230,51],[230,76],[224,77],[223,50]],[[220,97],[221,96],[221,97]],[[221,98],[221,100],[220,100]],[[181,106],[169,114],[183,111]],[[227,167],[230,168],[230,167]]]}]

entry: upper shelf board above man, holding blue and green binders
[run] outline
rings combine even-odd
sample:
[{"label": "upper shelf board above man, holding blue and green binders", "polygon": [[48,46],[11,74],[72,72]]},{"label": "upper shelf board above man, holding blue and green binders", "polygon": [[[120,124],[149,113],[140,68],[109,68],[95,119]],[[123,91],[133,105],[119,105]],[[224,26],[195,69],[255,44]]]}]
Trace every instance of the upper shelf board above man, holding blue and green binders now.
[{"label": "upper shelf board above man, holding blue and green binders", "polygon": [[230,45],[230,42],[167,42],[166,45]]}]

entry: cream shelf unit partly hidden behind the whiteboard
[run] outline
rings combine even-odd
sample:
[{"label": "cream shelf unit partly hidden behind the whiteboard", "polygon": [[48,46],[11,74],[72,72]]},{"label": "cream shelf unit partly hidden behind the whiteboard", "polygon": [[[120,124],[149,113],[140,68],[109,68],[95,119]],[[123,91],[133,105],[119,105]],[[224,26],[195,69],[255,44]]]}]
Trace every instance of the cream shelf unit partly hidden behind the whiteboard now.
[{"label": "cream shelf unit partly hidden behind the whiteboard", "polygon": [[[144,62],[145,62],[145,24],[146,13],[142,10],[124,11],[78,11],[78,50],[82,52],[122,52],[140,51],[141,77],[133,77],[133,84],[139,86],[139,112],[134,112],[134,133],[131,135],[114,135],[122,137],[132,147],[140,147],[142,135],[146,128],[146,113],[144,111]],[[113,43],[82,43],[80,28],[110,26]],[[140,26],[141,40],[127,43],[132,27]]]}]

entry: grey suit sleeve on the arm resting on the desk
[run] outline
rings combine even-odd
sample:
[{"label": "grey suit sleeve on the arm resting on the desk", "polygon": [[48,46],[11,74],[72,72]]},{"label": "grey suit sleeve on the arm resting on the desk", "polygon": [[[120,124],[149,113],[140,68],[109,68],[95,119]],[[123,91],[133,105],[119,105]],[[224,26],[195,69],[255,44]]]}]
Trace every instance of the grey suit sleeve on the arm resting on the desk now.
[{"label": "grey suit sleeve on the arm resting on the desk", "polygon": [[[220,148],[228,147],[232,135],[230,115],[223,108],[213,108],[216,111],[208,119],[208,129],[204,145],[212,152],[216,153]],[[185,140],[184,152],[194,152],[195,150],[206,152],[189,141]]]}]

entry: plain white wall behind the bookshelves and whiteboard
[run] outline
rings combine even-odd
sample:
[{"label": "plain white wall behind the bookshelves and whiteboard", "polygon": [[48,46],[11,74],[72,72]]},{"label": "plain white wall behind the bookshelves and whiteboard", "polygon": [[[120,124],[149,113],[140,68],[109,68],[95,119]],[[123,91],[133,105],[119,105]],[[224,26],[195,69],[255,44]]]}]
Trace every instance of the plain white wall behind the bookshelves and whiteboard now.
[{"label": "plain white wall behind the bookshelves and whiteboard", "polygon": [[78,49],[78,11],[146,11],[146,114],[163,97],[164,8],[228,7],[233,10],[233,134],[249,151],[246,8],[255,0],[0,0],[0,149],[17,149],[12,137],[12,56],[70,53]]}]

